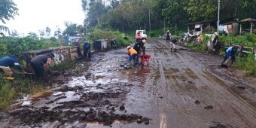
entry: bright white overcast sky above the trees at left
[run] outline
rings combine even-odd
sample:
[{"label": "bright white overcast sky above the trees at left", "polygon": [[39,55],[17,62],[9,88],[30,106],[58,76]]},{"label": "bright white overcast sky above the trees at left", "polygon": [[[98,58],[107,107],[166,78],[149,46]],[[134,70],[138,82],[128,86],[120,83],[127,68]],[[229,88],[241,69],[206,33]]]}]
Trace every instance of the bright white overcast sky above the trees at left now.
[{"label": "bright white overcast sky above the trees at left", "polygon": [[48,26],[53,34],[56,26],[59,26],[61,31],[66,29],[65,21],[78,25],[84,22],[81,0],[13,0],[13,2],[19,8],[20,15],[14,16],[14,20],[5,20],[5,26],[10,30],[16,29],[18,33],[38,33]]}]

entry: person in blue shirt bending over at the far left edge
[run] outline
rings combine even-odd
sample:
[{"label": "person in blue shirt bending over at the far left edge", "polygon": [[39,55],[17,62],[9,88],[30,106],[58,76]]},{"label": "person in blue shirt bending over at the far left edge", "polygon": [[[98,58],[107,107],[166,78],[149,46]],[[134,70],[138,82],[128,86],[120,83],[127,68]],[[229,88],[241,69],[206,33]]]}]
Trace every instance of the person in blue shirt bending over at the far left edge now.
[{"label": "person in blue shirt bending over at the far left edge", "polygon": [[18,61],[18,55],[10,55],[10,56],[4,56],[0,59],[0,68],[5,72],[6,75],[12,76],[14,75],[14,69],[18,69],[23,73],[23,68],[20,66]]}]

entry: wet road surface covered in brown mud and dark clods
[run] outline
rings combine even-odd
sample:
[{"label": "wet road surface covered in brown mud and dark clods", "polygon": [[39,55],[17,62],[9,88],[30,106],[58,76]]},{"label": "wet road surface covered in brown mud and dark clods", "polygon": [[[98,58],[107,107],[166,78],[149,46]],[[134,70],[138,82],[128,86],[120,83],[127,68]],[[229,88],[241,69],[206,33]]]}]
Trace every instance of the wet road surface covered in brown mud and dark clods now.
[{"label": "wet road surface covered in brown mud and dark clods", "polygon": [[56,72],[53,88],[2,111],[0,127],[256,127],[256,78],[218,67],[222,56],[171,52],[163,40],[145,47],[149,66],[124,66],[123,48]]}]

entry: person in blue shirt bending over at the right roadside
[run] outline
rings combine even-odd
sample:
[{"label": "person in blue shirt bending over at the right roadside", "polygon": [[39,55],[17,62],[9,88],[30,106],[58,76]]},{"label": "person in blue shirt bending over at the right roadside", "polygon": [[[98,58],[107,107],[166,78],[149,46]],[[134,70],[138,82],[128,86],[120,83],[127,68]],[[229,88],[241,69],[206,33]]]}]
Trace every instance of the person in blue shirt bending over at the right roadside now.
[{"label": "person in blue shirt bending over at the right roadside", "polygon": [[225,52],[224,60],[221,63],[221,66],[225,65],[225,62],[227,61],[227,59],[231,59],[231,66],[233,65],[233,62],[235,62],[235,59],[236,59],[236,50],[237,50],[237,47],[234,45],[227,48]]}]

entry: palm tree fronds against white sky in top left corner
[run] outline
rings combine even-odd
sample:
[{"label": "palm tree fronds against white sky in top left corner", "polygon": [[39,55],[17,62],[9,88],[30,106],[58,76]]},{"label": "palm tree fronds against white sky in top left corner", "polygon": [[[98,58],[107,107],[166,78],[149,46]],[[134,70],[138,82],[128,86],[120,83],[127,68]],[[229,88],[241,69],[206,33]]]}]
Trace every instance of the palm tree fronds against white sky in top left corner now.
[{"label": "palm tree fronds against white sky in top left corner", "polygon": [[12,0],[0,0],[0,20],[5,23],[5,20],[14,19],[18,15],[17,5]]}]

